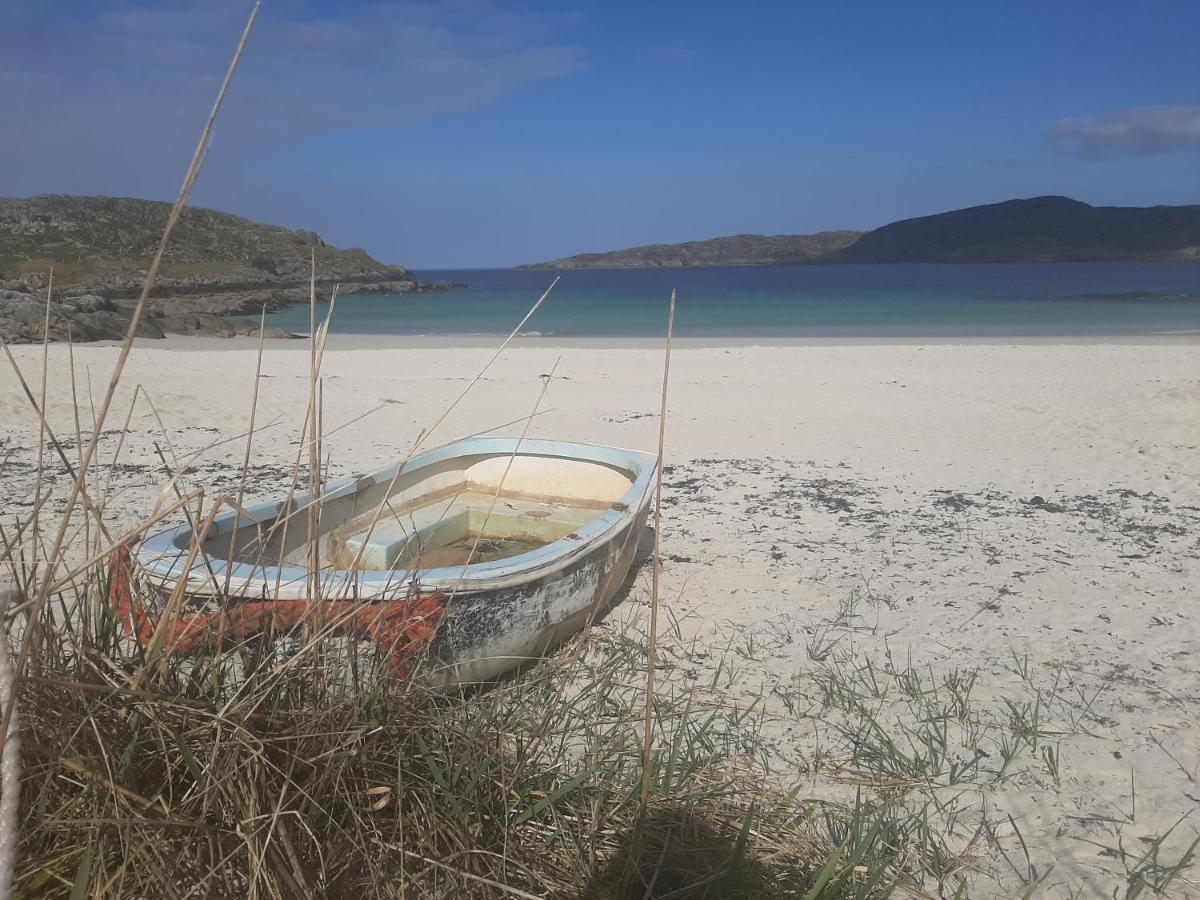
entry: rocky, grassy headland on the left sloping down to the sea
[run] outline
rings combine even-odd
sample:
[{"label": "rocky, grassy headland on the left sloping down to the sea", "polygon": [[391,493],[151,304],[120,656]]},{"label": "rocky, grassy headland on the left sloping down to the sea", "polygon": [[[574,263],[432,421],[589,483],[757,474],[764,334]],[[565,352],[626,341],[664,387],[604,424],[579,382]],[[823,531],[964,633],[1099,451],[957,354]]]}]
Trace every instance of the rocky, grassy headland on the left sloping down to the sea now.
[{"label": "rocky, grassy headland on the left sloping down to the sea", "polygon": [[[42,293],[53,265],[54,292],[64,302],[96,296],[119,313],[142,292],[169,211],[167,203],[118,197],[0,198],[0,289]],[[335,284],[342,294],[463,287],[424,283],[402,265],[385,265],[358,247],[331,247],[313,232],[188,208],[172,234],[148,314],[258,314],[307,302],[313,259],[320,296]]]}]

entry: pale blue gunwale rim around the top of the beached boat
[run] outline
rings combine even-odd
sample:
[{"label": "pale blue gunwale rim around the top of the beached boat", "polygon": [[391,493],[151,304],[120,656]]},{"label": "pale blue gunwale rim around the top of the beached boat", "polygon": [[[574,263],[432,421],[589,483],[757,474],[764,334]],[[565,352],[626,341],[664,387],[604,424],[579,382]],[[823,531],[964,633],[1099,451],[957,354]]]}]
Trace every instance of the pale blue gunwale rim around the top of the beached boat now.
[{"label": "pale blue gunwale rim around the top of the beached boat", "polygon": [[[594,548],[608,533],[617,533],[622,526],[636,521],[641,508],[649,502],[650,484],[658,460],[642,450],[535,438],[464,438],[419,454],[403,463],[394,463],[368,475],[346,475],[328,482],[320,492],[323,503],[389,485],[401,474],[418,473],[422,468],[463,456],[544,456],[580,460],[610,466],[632,479],[622,497],[604,509],[571,535],[551,541],[535,550],[504,559],[469,565],[437,569],[329,569],[320,572],[323,595],[372,599],[390,595],[407,588],[415,581],[421,588],[455,588],[461,592],[490,590],[516,583],[533,581],[580,553]],[[304,509],[311,502],[308,491],[292,494],[290,508]],[[278,518],[288,505],[286,499],[252,504],[241,511],[222,512],[212,520],[206,541],[222,534],[230,534],[235,522],[239,528],[254,527]],[[335,526],[336,528],[337,526]],[[187,546],[193,528],[182,524],[146,538],[134,550],[133,558],[143,574],[164,588],[173,588],[180,580],[187,580],[187,593],[205,593],[212,588],[214,578],[224,582],[228,572],[229,593],[235,596],[268,596],[274,599],[302,599],[310,590],[311,575],[300,565],[263,565],[229,560],[222,557],[197,553],[191,569],[184,571]],[[230,565],[232,562],[232,565]]]}]

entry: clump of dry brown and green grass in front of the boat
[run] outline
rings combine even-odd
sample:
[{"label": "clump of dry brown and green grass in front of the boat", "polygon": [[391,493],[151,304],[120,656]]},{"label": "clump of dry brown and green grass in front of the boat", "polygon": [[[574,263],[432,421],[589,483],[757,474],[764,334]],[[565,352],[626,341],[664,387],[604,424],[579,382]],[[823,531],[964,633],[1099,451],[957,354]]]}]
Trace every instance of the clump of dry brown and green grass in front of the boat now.
[{"label": "clump of dry brown and green grass in front of the boat", "polygon": [[164,670],[104,587],[76,598],[90,625],[46,623],[20,682],[19,896],[833,898],[898,877],[866,810],[768,787],[756,713],[697,689],[655,696],[643,812],[636,631],[446,697],[385,666],[314,679],[344,649],[317,643]]}]

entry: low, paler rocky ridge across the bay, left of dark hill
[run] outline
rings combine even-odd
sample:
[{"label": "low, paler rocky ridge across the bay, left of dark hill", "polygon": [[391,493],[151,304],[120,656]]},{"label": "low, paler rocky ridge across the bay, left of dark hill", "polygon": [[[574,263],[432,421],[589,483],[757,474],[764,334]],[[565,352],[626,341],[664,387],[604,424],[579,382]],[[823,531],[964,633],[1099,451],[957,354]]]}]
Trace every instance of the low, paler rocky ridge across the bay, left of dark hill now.
[{"label": "low, paler rocky ridge across the bay, left of dark hill", "polygon": [[737,234],[686,244],[648,244],[608,253],[580,253],[520,269],[667,269],[690,265],[800,265],[853,244],[862,232]]}]

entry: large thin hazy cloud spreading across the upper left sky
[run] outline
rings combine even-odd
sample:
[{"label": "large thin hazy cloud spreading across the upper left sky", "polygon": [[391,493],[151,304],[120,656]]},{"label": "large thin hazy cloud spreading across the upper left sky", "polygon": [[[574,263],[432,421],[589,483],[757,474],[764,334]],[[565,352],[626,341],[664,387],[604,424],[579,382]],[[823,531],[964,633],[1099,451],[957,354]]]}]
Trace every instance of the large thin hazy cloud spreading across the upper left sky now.
[{"label": "large thin hazy cloud spreading across the upper left sky", "polygon": [[[132,0],[6,12],[0,194],[176,187],[251,0]],[[341,14],[340,14],[341,13]],[[586,65],[568,16],[494,0],[263,6],[210,164],[253,161],[343,127],[485,106]],[[112,178],[124,173],[121,185]],[[61,186],[61,187],[58,187]],[[89,188],[83,188],[89,190]]]}]

